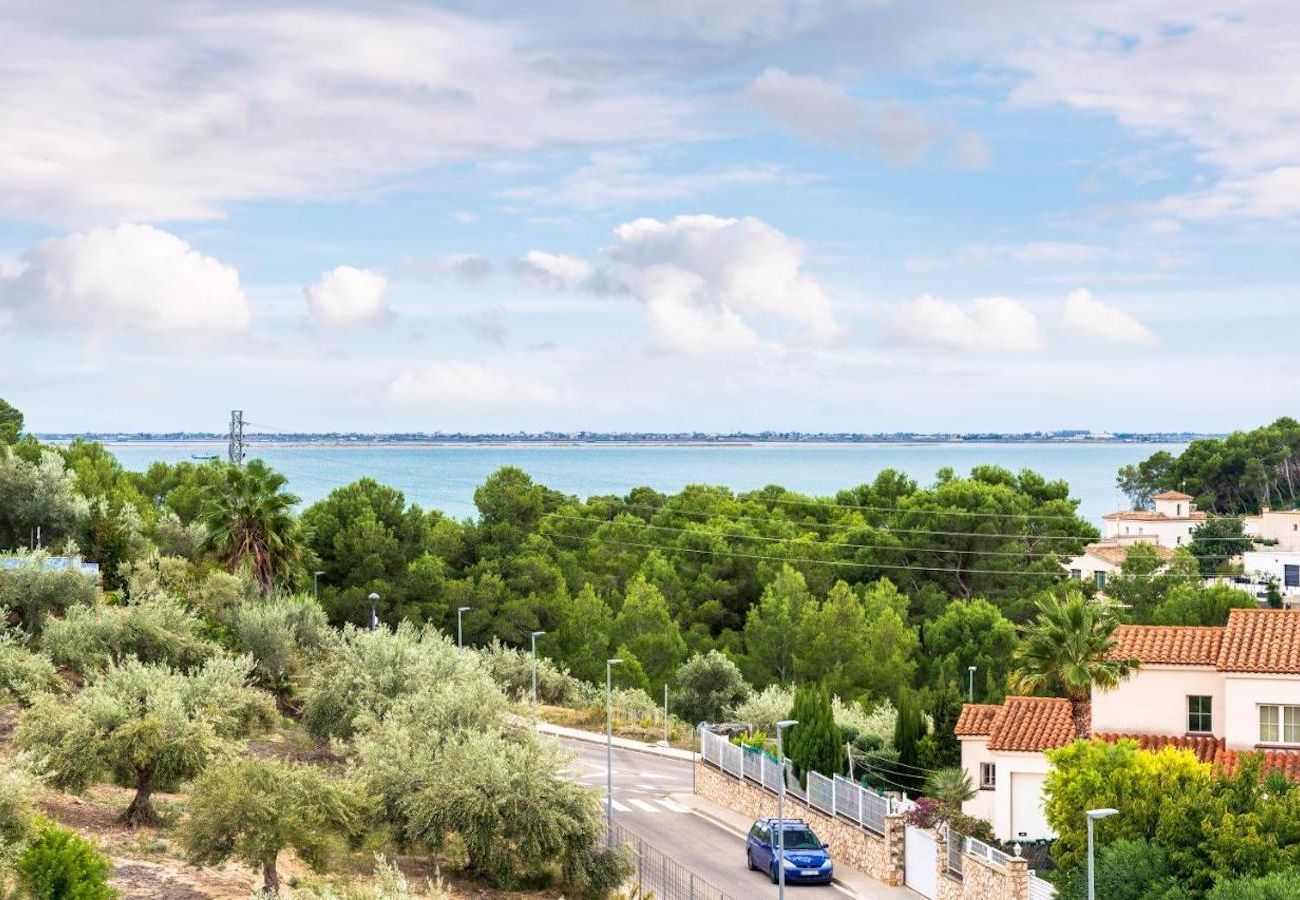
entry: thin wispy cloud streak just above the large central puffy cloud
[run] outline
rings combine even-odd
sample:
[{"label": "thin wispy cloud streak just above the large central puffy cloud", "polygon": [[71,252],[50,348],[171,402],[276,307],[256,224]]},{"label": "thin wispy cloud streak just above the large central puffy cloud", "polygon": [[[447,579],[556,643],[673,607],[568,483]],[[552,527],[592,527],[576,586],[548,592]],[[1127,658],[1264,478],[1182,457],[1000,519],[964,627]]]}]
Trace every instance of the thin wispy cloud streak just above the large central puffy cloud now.
[{"label": "thin wispy cloud streak just above the large central puffy cloud", "polygon": [[650,160],[638,153],[602,151],[590,161],[566,176],[554,187],[516,187],[498,192],[507,200],[529,200],[601,209],[647,200],[673,200],[731,185],[797,183],[801,176],[775,165],[744,165],[697,173],[655,172]]}]

